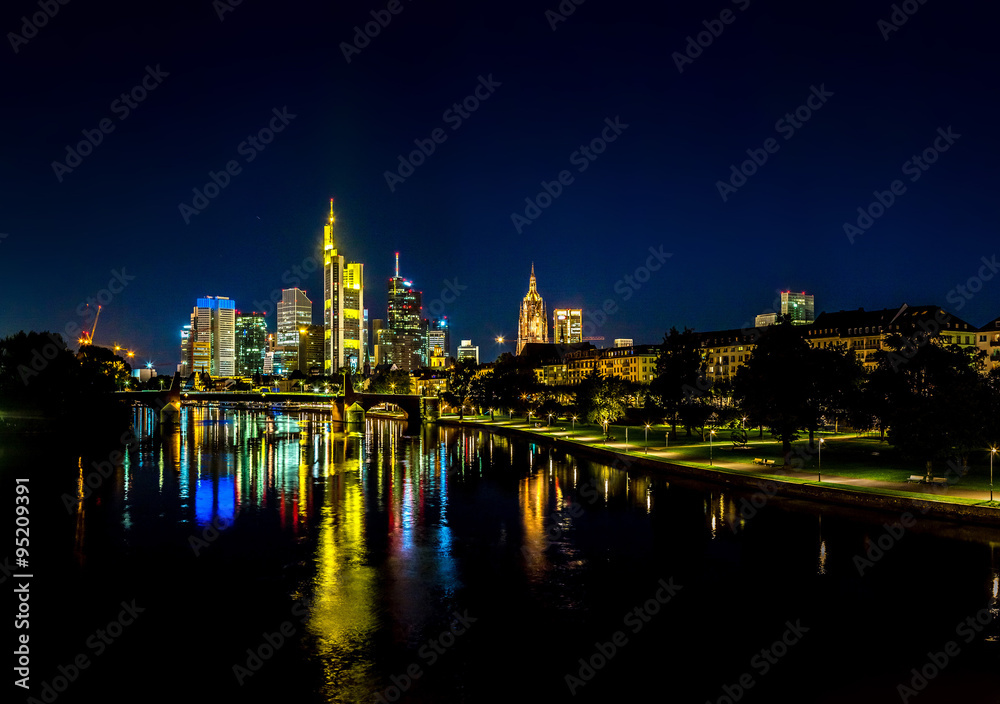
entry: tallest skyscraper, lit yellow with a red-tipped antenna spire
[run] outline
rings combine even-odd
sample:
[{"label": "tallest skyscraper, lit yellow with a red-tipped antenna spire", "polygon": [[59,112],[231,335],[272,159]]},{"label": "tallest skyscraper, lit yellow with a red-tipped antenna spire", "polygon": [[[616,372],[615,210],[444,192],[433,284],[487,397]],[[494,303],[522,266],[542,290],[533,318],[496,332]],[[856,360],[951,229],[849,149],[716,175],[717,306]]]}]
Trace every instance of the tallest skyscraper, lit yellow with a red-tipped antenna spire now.
[{"label": "tallest skyscraper, lit yellow with a red-tipped antenna spire", "polygon": [[337,252],[333,198],[330,217],[323,227],[323,373],[334,374],[347,366],[364,364],[367,340],[364,322],[364,265],[345,264]]}]

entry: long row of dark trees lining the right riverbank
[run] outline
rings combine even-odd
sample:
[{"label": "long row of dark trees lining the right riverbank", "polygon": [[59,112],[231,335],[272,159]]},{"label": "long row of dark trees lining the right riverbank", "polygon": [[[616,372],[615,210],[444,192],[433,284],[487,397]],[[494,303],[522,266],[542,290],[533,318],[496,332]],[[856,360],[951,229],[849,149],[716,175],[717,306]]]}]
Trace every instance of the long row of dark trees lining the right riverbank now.
[{"label": "long row of dark trees lining the right riverbank", "polygon": [[903,329],[872,353],[865,365],[853,350],[813,347],[783,320],[756,340],[732,382],[711,383],[692,330],[671,329],[660,346],[656,377],[632,384],[591,374],[577,386],[538,383],[523,360],[503,355],[493,369],[455,365],[446,400],[463,411],[546,417],[572,414],[591,423],[666,422],[676,436],[706,425],[770,430],[782,443],[786,464],[792,442],[824,425],[877,430],[910,459],[932,465],[965,464],[969,453],[1000,441],[1000,370],[989,372],[985,353],[946,347],[923,331]]}]

